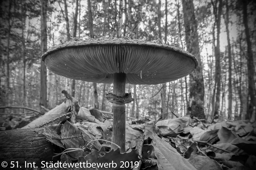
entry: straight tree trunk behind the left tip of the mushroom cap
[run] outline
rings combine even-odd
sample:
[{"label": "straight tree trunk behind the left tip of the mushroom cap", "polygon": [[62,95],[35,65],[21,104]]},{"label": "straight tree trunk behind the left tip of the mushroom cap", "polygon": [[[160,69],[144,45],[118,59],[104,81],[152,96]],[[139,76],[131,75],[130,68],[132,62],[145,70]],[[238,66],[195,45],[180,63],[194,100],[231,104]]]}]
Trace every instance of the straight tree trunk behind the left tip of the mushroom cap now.
[{"label": "straight tree trunk behind the left tip of the mushroom cap", "polygon": [[[41,55],[47,51],[47,0],[41,0]],[[40,105],[47,107],[47,69],[41,61]]]}]

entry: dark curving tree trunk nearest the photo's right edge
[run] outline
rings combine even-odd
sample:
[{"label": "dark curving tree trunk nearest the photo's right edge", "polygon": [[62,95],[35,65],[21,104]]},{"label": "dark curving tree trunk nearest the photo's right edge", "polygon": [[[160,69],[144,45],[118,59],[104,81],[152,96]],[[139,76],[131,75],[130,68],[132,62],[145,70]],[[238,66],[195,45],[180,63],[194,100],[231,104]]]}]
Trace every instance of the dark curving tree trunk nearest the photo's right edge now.
[{"label": "dark curving tree trunk nearest the photo's right edge", "polygon": [[248,27],[248,19],[247,19],[247,0],[243,1],[243,22],[245,25],[245,35],[247,42],[247,67],[248,67],[248,100],[247,100],[247,112],[245,115],[246,120],[250,120],[252,115],[255,114],[256,108],[256,99],[255,99],[255,81],[254,81],[254,61],[253,61],[253,53],[251,49],[251,40],[250,40],[250,32]]}]

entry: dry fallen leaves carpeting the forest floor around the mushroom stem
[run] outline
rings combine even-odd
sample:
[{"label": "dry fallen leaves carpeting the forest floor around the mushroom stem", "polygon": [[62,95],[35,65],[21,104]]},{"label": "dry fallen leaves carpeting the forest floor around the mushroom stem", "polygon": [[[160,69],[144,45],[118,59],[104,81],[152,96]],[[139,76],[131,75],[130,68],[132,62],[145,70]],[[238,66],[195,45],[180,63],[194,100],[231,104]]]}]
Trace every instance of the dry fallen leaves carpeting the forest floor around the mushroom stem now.
[{"label": "dry fallen leaves carpeting the forest floor around the mushroom stem", "polygon": [[[83,107],[74,117],[72,123],[44,130],[48,141],[63,149],[58,153],[62,162],[116,163],[108,169],[120,169],[120,163],[128,161],[133,166],[122,169],[134,170],[137,162],[139,169],[156,170],[256,168],[256,124],[248,121],[210,124],[187,116],[157,122],[146,117],[126,121],[126,152],[120,153],[111,150],[110,117]],[[145,135],[141,153],[136,149],[140,134]]]}]

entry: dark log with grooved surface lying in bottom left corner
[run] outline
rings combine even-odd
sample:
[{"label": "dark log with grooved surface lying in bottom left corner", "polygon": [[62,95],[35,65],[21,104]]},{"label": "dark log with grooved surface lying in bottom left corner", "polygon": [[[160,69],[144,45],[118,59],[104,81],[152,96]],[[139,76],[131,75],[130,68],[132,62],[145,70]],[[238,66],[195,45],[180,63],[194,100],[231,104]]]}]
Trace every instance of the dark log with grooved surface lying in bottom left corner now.
[{"label": "dark log with grooved surface lying in bottom left corner", "polygon": [[[0,131],[0,162],[7,163],[5,170],[36,169],[34,166],[41,169],[41,161],[52,161],[54,147],[42,134],[43,130],[44,128]],[[11,168],[12,166],[14,167]]]}]

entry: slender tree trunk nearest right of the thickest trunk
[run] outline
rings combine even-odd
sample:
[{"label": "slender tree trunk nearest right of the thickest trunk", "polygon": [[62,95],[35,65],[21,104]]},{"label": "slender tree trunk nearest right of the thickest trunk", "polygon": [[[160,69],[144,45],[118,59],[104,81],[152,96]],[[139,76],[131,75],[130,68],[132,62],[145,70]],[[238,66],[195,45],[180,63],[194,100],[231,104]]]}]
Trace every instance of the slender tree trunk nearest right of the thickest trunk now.
[{"label": "slender tree trunk nearest right of the thickest trunk", "polygon": [[215,100],[215,109],[214,115],[219,114],[220,108],[220,16],[222,13],[222,0],[219,0],[218,14],[216,12],[216,27],[217,27],[217,45],[215,46],[215,82],[216,82],[216,100]]}]

